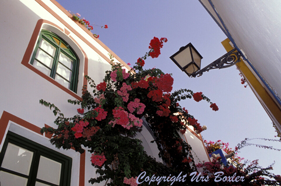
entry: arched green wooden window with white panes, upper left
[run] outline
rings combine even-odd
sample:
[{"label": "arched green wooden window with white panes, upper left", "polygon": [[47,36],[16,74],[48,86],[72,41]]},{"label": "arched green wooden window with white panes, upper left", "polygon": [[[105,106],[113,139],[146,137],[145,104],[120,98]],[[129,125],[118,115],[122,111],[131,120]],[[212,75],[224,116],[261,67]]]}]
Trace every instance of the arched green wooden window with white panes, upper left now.
[{"label": "arched green wooden window with white panes, upper left", "polygon": [[79,58],[58,35],[42,30],[30,63],[77,93]]}]

